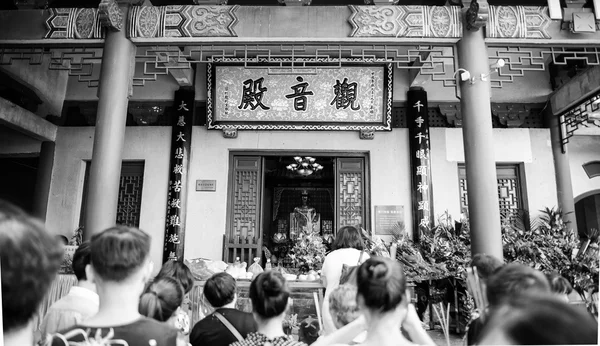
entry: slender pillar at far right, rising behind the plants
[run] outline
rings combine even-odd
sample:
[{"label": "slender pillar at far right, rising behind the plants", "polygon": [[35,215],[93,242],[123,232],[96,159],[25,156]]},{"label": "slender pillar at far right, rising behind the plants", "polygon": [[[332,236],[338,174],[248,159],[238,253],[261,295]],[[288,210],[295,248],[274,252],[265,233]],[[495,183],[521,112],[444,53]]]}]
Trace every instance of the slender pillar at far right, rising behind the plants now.
[{"label": "slender pillar at far right, rising behind the plants", "polygon": [[561,146],[561,128],[558,115],[547,111],[544,114],[550,128],[552,142],[552,156],[554,157],[554,172],[556,176],[556,192],[558,207],[562,210],[563,220],[577,232],[577,218],[575,216],[575,199],[573,198],[573,185],[571,182],[571,168],[569,167],[569,153],[567,146]]}]

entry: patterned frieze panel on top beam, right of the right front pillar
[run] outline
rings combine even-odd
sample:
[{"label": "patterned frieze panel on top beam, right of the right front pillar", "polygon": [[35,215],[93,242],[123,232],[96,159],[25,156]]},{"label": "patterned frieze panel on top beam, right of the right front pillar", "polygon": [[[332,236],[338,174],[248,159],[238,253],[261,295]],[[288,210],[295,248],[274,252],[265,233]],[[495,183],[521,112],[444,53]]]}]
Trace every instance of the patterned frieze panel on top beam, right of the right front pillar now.
[{"label": "patterned frieze panel on top beam, right of the right front pillar", "polygon": [[486,26],[489,38],[549,39],[548,27],[552,20],[548,7],[490,6]]}]

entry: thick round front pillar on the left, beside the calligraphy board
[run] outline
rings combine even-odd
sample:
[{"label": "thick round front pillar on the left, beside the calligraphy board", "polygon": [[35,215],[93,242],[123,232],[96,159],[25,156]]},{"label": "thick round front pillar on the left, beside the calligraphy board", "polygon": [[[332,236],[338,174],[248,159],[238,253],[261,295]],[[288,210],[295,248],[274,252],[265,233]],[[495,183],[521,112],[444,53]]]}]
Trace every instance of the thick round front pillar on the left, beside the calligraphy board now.
[{"label": "thick round front pillar on the left, beside the calligraphy board", "polygon": [[[121,10],[126,20],[128,8],[122,7]],[[125,29],[107,30],[98,87],[84,239],[115,225],[134,58],[135,46],[125,36]]]}]

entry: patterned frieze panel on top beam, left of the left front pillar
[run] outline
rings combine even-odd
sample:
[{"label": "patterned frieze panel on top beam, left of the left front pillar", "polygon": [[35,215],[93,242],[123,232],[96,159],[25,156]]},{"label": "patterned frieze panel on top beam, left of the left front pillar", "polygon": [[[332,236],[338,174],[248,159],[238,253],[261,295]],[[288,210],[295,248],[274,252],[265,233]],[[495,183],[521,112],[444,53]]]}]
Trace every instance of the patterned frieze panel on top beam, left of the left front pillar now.
[{"label": "patterned frieze panel on top beam, left of the left front pillar", "polygon": [[103,38],[98,10],[94,8],[49,8],[45,38],[99,39]]}]

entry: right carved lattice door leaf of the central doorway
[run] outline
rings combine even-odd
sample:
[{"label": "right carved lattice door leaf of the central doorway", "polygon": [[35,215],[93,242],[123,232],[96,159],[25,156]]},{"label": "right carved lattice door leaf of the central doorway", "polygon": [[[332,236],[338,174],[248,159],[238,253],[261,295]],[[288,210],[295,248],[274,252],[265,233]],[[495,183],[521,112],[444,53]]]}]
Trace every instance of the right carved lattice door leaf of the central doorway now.
[{"label": "right carved lattice door leaf of the central doorway", "polygon": [[365,160],[336,159],[336,227],[366,227],[365,220]]}]

